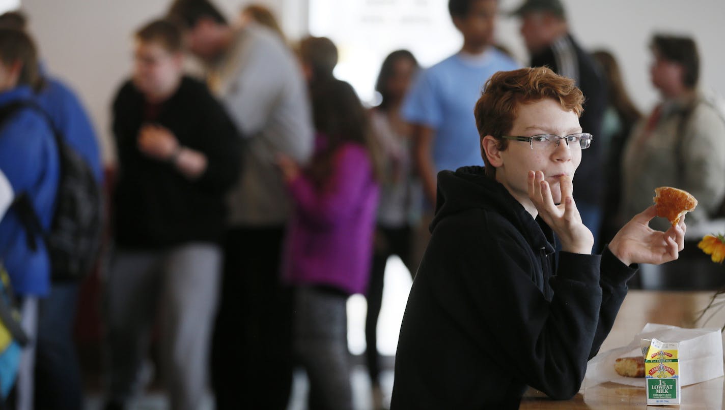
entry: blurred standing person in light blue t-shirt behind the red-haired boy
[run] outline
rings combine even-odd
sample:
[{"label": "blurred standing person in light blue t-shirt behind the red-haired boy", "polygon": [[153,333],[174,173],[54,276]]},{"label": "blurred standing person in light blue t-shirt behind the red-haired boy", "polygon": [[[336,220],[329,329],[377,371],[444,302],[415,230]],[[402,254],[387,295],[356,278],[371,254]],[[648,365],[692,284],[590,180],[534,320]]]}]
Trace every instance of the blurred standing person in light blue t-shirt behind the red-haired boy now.
[{"label": "blurred standing person in light blue t-shirt behind the red-haired boy", "polygon": [[[436,174],[483,165],[471,107],[492,74],[520,67],[494,47],[497,5],[497,0],[448,1],[453,24],[463,35],[463,47],[426,69],[402,106],[403,119],[413,125],[413,161],[427,202],[416,237],[426,244],[436,203]],[[423,243],[415,245],[416,263],[424,247]]]}]

